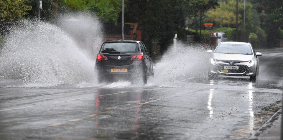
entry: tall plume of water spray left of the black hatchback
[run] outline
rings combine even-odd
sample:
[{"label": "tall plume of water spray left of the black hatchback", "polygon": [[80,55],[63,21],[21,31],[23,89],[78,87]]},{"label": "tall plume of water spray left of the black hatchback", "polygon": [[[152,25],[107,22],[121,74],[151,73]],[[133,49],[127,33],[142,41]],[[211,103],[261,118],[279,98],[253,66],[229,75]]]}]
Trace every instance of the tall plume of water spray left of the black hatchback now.
[{"label": "tall plume of water spray left of the black hatchback", "polygon": [[[22,80],[21,87],[94,82],[95,59],[90,54],[101,44],[101,36],[89,35],[101,34],[101,26],[97,19],[89,16],[81,15],[80,21],[74,32],[72,28],[63,28],[66,24],[73,25],[64,19],[58,26],[27,20],[13,27],[0,54],[0,77]],[[82,30],[88,24],[95,26],[88,32],[95,33]],[[77,32],[85,34],[79,38],[87,40],[84,44],[73,39],[72,33]]]}]

